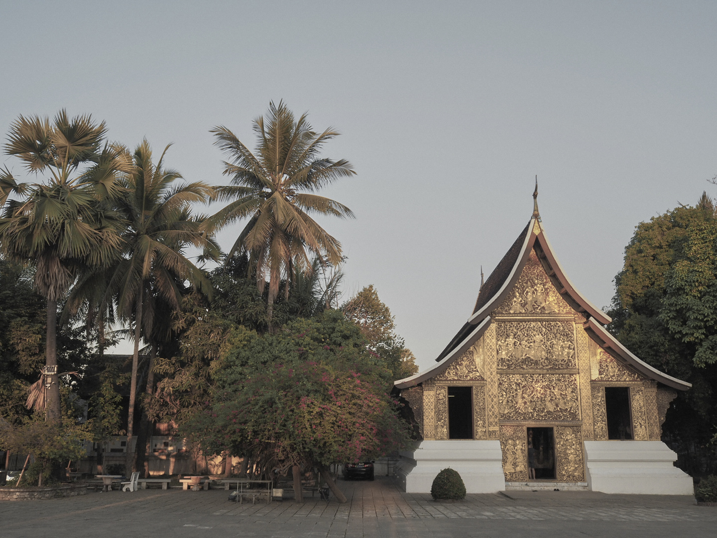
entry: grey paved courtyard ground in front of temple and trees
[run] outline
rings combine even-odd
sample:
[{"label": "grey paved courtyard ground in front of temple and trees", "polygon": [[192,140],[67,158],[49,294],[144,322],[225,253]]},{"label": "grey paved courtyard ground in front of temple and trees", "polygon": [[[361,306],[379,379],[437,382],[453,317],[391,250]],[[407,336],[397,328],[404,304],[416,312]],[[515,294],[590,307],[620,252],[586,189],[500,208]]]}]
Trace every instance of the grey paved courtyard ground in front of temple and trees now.
[{"label": "grey paved courtyard ground in front of temple and trees", "polygon": [[711,537],[717,506],[691,497],[521,491],[436,502],[391,478],[338,482],[348,503],[236,504],[227,491],[141,490],[0,501],[0,537]]}]

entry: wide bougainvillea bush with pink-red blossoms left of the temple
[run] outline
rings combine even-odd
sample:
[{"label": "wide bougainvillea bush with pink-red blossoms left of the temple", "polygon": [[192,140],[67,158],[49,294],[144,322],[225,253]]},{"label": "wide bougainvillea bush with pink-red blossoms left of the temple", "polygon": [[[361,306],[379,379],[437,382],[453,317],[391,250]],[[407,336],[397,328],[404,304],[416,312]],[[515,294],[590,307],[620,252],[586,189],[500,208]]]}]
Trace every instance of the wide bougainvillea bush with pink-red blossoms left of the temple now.
[{"label": "wide bougainvillea bush with pink-red blossoms left of the temple", "polygon": [[212,399],[184,425],[206,453],[285,471],[366,461],[409,443],[389,370],[340,312],[276,334],[242,328],[228,341],[212,364]]}]

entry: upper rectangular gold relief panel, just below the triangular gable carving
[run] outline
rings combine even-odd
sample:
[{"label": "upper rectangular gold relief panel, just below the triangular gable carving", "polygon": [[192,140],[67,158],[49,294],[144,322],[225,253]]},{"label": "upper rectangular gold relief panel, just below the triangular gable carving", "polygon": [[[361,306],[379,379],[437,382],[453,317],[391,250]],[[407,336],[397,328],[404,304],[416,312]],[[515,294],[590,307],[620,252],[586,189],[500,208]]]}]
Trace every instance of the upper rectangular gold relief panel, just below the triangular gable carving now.
[{"label": "upper rectangular gold relief panel, just below the triangular gable carving", "polygon": [[498,368],[575,368],[572,321],[507,321],[498,323]]}]

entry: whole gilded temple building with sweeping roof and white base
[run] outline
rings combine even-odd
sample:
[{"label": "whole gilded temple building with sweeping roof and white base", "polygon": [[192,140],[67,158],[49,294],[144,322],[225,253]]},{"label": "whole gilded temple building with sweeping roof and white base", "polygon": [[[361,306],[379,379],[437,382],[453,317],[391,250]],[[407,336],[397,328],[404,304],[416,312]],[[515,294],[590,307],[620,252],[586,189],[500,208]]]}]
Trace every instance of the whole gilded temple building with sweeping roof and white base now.
[{"label": "whole gilded temple building with sweeping roof and white base", "polygon": [[481,283],[473,313],[424,372],[395,382],[420,441],[401,454],[406,491],[442,468],[469,493],[589,489],[693,494],[660,440],[690,384],[635,357],[561,268],[538,213]]}]

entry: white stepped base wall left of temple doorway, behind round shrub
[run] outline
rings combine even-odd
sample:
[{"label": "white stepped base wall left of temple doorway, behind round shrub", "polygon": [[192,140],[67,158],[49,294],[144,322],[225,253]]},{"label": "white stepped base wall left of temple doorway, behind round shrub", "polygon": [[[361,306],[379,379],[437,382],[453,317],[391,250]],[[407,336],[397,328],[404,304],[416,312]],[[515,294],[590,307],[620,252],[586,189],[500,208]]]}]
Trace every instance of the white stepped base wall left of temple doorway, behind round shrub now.
[{"label": "white stepped base wall left of temple doorway, behind round shrub", "polygon": [[407,493],[429,493],[442,469],[458,471],[469,494],[505,490],[500,441],[421,441],[414,451],[401,452],[396,476]]}]

